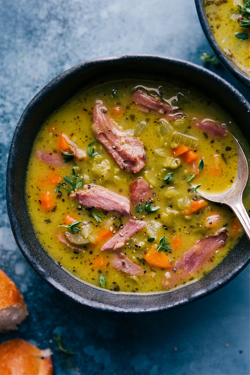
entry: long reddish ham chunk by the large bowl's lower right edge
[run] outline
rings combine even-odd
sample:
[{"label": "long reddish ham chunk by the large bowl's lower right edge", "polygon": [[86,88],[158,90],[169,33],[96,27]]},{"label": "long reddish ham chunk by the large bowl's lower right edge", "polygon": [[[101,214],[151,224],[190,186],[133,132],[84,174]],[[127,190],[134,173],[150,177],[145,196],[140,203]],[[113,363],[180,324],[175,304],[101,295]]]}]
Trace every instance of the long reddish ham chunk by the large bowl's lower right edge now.
[{"label": "long reddish ham chunk by the large bowl's lower right edge", "polygon": [[207,236],[195,243],[195,245],[184,252],[182,257],[175,262],[173,269],[166,272],[163,278],[162,286],[168,288],[175,287],[186,279],[195,274],[200,267],[204,266],[211,256],[222,246],[228,239],[228,230],[220,229],[215,234]]}]

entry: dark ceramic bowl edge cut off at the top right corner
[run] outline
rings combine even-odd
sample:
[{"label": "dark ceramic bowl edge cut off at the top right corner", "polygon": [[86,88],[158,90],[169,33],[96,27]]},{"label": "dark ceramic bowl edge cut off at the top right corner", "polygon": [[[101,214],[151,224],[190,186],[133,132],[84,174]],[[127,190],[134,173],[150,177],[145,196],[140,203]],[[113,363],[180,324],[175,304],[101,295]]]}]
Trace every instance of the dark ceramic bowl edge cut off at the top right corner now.
[{"label": "dark ceramic bowl edge cut off at the top right corner", "polygon": [[209,26],[205,12],[204,0],[195,0],[198,17],[203,28],[204,34],[211,45],[214,53],[220,62],[236,77],[239,81],[250,87],[250,77],[244,73],[223,51],[220,49]]}]

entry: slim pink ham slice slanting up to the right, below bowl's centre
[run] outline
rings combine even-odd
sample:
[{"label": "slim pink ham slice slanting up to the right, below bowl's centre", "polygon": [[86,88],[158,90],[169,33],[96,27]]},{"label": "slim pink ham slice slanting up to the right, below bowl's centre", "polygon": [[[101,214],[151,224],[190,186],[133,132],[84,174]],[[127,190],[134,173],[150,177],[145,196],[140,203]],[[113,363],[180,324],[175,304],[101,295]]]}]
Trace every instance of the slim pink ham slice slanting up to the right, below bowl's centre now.
[{"label": "slim pink ham slice slanting up to the right, below bowl's centre", "polygon": [[114,235],[114,237],[102,246],[101,250],[117,250],[122,248],[127,240],[129,240],[133,234],[144,228],[145,225],[145,221],[129,220],[127,224]]}]

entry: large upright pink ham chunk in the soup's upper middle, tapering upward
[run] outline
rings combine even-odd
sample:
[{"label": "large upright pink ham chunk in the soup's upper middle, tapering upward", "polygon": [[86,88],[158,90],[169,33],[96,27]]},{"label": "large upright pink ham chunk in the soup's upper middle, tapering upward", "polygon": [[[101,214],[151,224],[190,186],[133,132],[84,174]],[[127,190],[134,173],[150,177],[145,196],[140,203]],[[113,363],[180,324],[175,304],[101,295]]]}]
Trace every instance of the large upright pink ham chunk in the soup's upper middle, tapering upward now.
[{"label": "large upright pink ham chunk in the soup's upper middle, tapering upward", "polygon": [[146,154],[141,141],[124,132],[112,120],[102,101],[98,101],[93,110],[93,130],[96,138],[127,172],[137,173],[145,166]]}]

